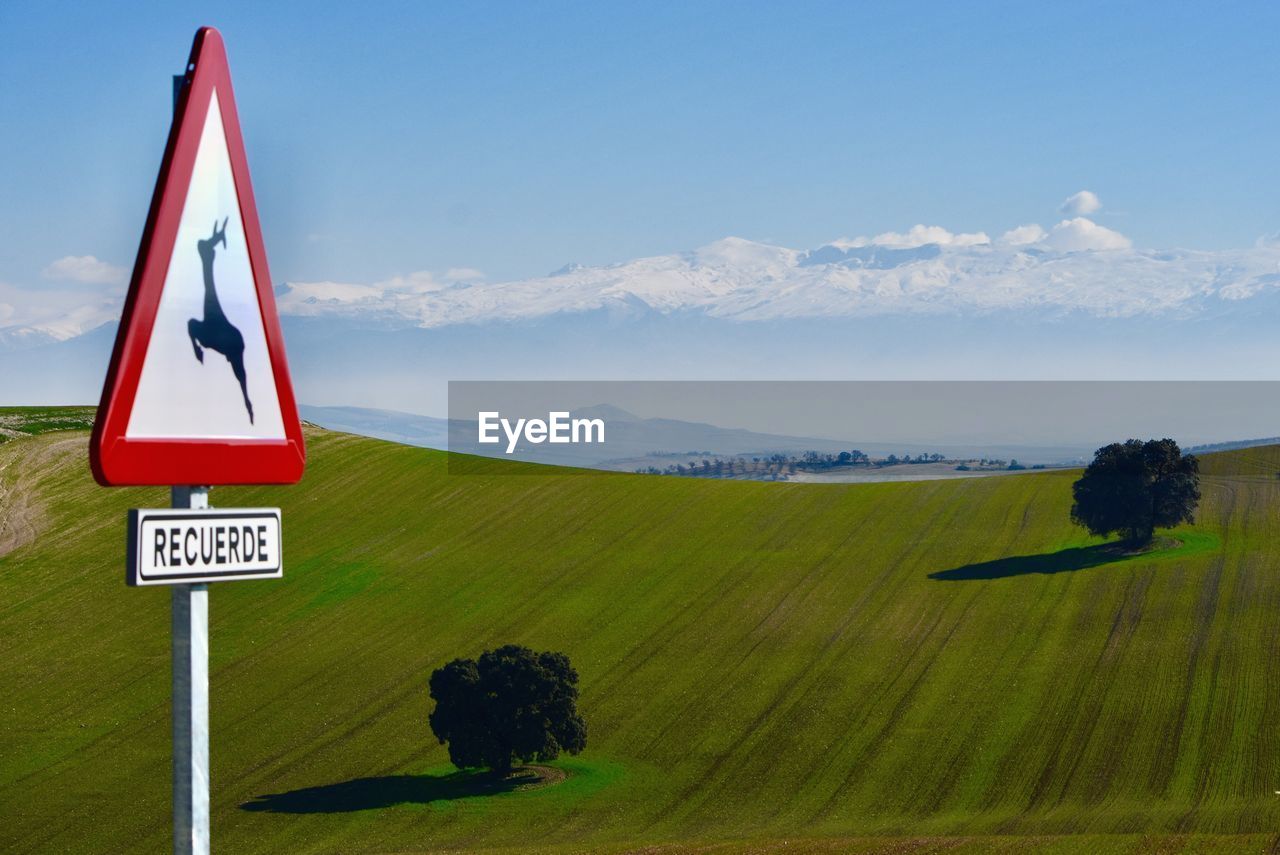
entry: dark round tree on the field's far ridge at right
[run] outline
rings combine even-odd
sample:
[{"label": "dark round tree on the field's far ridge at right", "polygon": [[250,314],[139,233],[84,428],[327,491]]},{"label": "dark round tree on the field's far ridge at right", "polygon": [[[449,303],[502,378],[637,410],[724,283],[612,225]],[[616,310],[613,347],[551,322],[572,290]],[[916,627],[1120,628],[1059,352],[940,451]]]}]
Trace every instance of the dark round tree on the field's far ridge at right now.
[{"label": "dark round tree on the field's far ridge at right", "polygon": [[1092,534],[1123,534],[1134,545],[1151,543],[1156,529],[1194,522],[1199,503],[1199,461],[1171,439],[1111,443],[1071,488],[1071,520]]}]

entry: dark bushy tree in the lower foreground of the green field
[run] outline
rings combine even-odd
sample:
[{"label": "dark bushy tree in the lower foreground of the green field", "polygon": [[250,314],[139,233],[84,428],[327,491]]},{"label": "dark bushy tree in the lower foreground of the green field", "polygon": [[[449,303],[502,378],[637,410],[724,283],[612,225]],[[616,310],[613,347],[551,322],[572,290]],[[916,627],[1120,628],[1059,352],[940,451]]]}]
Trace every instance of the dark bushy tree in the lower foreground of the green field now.
[{"label": "dark bushy tree in the lower foreground of the green field", "polygon": [[431,675],[431,732],[460,769],[506,774],[518,763],[554,760],[586,747],[577,672],[563,653],[508,644],[479,659],[454,659]]}]

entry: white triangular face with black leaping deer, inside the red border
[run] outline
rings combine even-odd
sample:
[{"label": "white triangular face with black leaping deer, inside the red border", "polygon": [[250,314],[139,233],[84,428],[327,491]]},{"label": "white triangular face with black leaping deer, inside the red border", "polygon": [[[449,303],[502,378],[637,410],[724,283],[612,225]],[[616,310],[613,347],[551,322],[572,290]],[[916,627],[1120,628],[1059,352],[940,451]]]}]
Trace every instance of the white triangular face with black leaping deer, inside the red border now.
[{"label": "white triangular face with black leaping deer, inside the red border", "polygon": [[216,92],[125,436],[284,439]]}]

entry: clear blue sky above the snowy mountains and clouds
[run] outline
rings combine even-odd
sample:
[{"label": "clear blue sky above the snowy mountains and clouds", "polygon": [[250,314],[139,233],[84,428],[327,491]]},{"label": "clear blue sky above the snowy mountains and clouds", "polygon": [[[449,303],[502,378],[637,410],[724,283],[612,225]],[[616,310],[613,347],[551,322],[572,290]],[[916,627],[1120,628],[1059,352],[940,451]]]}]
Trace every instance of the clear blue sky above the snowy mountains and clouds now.
[{"label": "clear blue sky above the snowy mountains and clouds", "polygon": [[132,265],[205,23],[278,280],[998,234],[1082,188],[1137,246],[1280,230],[1280,8],[968,5],[5,4],[0,282]]}]

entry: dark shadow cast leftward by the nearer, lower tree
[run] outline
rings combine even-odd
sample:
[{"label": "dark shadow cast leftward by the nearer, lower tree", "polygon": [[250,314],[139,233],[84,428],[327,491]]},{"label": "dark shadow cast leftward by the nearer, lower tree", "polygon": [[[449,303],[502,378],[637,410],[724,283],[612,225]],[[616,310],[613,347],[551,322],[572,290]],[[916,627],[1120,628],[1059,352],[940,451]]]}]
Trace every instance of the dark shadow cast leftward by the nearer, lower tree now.
[{"label": "dark shadow cast leftward by the nearer, lower tree", "polygon": [[534,771],[518,769],[508,777],[492,772],[385,774],[256,796],[252,801],[242,804],[241,809],[276,814],[337,814],[403,804],[425,805],[433,801],[494,796],[536,785],[540,779]]}]

